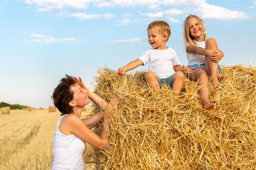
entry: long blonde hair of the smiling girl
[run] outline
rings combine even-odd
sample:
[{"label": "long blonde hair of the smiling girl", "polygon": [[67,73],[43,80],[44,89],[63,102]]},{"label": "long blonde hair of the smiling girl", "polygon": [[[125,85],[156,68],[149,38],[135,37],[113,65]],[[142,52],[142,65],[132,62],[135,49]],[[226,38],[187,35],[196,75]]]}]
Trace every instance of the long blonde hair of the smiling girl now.
[{"label": "long blonde hair of the smiling girl", "polygon": [[185,47],[188,45],[188,43],[196,45],[195,41],[193,41],[193,37],[189,35],[188,21],[190,18],[195,18],[201,26],[202,36],[200,38],[200,41],[206,41],[206,39],[207,39],[207,35],[205,32],[205,27],[204,27],[204,21],[202,21],[200,17],[190,14],[190,15],[188,15],[188,17],[186,17],[186,19],[184,20],[184,23],[183,23],[183,25],[184,25],[183,34],[184,34]]}]

